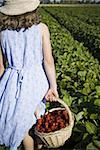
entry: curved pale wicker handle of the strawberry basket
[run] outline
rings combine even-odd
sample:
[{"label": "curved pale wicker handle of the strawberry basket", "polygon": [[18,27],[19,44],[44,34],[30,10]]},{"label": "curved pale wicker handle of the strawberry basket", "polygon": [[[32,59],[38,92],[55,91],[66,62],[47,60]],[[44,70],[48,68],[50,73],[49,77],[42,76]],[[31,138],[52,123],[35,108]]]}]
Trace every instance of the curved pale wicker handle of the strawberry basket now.
[{"label": "curved pale wicker handle of the strawberry basket", "polygon": [[60,104],[62,104],[66,108],[66,110],[69,114],[69,124],[71,127],[73,127],[74,126],[74,116],[72,116],[72,113],[71,113],[68,105],[63,100],[61,100],[60,98],[57,98],[57,102],[59,102]]}]

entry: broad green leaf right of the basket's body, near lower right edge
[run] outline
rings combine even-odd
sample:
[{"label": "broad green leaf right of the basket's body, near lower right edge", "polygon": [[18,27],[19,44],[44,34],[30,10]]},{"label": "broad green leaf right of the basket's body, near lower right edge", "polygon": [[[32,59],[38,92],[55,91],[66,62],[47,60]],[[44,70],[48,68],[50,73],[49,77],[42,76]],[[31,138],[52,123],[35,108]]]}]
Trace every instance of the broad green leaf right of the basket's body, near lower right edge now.
[{"label": "broad green leaf right of the basket's body, near lower right edge", "polygon": [[97,127],[96,127],[93,123],[87,121],[87,122],[86,122],[86,130],[87,130],[90,134],[95,134],[96,131],[97,131]]}]

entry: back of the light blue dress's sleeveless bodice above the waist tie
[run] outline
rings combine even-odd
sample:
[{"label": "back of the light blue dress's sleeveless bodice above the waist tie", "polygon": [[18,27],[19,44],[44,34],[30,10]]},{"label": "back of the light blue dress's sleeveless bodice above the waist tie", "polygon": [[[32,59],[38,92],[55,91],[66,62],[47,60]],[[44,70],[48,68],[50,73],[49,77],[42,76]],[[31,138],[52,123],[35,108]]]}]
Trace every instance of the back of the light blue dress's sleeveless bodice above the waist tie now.
[{"label": "back of the light blue dress's sleeveless bodice above the waist tie", "polygon": [[10,66],[20,68],[23,63],[27,66],[33,63],[41,64],[43,59],[41,23],[32,25],[27,30],[22,28],[19,32],[8,29],[2,31],[1,45]]}]

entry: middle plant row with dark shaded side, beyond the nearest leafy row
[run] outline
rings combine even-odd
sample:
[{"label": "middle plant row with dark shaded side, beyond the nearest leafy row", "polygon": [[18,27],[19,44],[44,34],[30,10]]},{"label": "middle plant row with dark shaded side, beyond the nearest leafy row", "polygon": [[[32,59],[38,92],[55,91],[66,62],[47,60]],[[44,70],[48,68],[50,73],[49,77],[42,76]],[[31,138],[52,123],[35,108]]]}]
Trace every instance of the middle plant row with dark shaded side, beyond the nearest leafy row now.
[{"label": "middle plant row with dark shaded side, beyond the nearest leafy row", "polygon": [[68,16],[63,9],[57,7],[44,7],[62,26],[70,31],[79,42],[83,42],[92,52],[93,56],[100,60],[100,28],[88,25],[75,17]]}]

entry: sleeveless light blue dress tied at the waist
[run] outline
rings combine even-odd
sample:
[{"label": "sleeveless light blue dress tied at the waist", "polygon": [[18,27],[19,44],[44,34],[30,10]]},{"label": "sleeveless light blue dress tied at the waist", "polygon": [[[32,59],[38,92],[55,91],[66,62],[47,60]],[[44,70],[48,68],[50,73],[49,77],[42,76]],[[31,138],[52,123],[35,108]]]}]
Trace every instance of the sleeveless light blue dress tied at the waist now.
[{"label": "sleeveless light blue dress tied at the waist", "polygon": [[0,78],[0,145],[17,150],[36,123],[34,115],[45,112],[49,81],[43,65],[40,23],[19,32],[1,32],[1,48],[8,60]]}]

